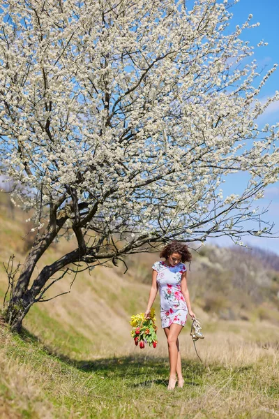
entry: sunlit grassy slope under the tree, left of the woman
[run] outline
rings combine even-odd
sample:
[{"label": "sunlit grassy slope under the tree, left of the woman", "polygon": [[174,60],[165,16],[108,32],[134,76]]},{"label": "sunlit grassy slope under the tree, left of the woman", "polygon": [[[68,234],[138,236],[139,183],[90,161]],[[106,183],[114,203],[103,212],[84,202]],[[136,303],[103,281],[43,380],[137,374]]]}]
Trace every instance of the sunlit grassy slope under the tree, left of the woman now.
[{"label": "sunlit grassy slope under the tree, left of the woman", "polygon": [[[24,261],[24,253],[21,251],[25,246],[24,228],[24,223],[19,217],[10,220],[1,216],[1,261],[7,262],[11,254],[15,255],[17,262]],[[50,263],[54,257],[61,255],[62,251],[69,251],[73,245],[62,240],[59,246],[50,248],[39,266]],[[3,297],[7,285],[3,265],[0,267],[0,273],[0,295]],[[47,297],[69,291],[72,280],[73,277],[68,276],[56,283]],[[131,273],[124,276],[113,268],[96,267],[90,274],[80,274],[68,295],[34,305],[24,325],[58,351],[61,339],[65,339],[63,349],[65,350],[66,346],[69,356],[79,353],[80,348],[80,356],[94,351],[105,353],[115,350],[117,353],[117,346],[121,344],[123,337],[119,333],[115,334],[115,328],[128,337],[128,314],[145,307],[148,292],[149,286],[137,283]],[[105,344],[103,339],[100,339],[100,327],[106,337]],[[61,330],[59,336],[56,336],[56,330]],[[126,340],[130,343],[130,339]]]}]

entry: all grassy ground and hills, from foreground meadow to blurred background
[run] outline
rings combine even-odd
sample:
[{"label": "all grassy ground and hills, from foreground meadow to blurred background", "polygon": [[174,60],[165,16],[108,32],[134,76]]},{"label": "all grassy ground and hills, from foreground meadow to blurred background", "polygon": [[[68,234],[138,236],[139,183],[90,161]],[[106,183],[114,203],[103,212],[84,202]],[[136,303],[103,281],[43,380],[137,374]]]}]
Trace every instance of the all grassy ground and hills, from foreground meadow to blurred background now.
[{"label": "all grassy ground and hills, from foreground meadow to blurred background", "polygon": [[[24,260],[25,218],[18,210],[14,219],[1,212],[1,261],[10,254]],[[55,244],[40,266],[72,247],[72,242]],[[130,315],[146,307],[150,267],[157,258],[151,253],[128,258],[126,274],[121,266],[83,272],[70,293],[31,308],[21,337],[0,326],[1,418],[274,417],[278,272],[259,257],[235,255],[232,249],[206,246],[193,252],[188,282],[206,335],[197,342],[204,365],[188,322],[180,338],[188,386],[172,396],[165,391],[167,345],[160,327],[156,350],[140,351],[130,338]],[[48,296],[69,291],[72,279],[55,284]],[[1,265],[1,300],[5,291]]]}]

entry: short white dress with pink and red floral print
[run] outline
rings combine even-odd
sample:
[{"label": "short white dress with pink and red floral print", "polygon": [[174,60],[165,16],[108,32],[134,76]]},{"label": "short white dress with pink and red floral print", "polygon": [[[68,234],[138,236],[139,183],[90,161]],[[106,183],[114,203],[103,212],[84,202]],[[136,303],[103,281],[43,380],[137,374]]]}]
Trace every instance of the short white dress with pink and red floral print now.
[{"label": "short white dress with pink and red floral print", "polygon": [[159,260],[152,268],[158,272],[162,328],[168,328],[172,323],[185,325],[188,307],[181,292],[181,277],[183,272],[186,272],[185,265],[178,263],[176,266],[168,266]]}]

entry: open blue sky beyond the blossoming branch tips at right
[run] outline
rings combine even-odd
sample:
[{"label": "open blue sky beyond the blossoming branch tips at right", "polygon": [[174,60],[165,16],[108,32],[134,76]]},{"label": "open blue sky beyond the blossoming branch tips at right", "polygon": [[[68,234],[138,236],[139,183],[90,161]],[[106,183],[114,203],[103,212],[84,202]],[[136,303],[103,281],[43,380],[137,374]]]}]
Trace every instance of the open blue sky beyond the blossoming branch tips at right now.
[{"label": "open blue sky beyond the blossoming branch tips at right", "polygon": [[[250,41],[251,45],[257,45],[262,39],[269,43],[266,47],[255,48],[253,59],[257,60],[259,69],[264,69],[264,73],[273,66],[279,64],[279,0],[240,0],[234,5],[230,12],[233,13],[232,25],[242,24],[252,13],[252,23],[259,22],[260,26],[253,29],[247,29],[241,38]],[[274,92],[279,90],[279,67],[271,78],[262,88],[259,98],[264,99],[267,96],[273,96]],[[259,126],[262,124],[274,124],[279,122],[279,101],[273,103],[258,119]],[[245,173],[236,175],[234,179],[227,179],[223,184],[224,196],[229,193],[238,193],[237,184],[245,182],[247,175]],[[274,233],[279,236],[279,182],[266,188],[264,198],[257,201],[259,208],[266,208],[269,205],[269,212],[265,214],[265,220],[275,223]],[[231,245],[232,240],[227,237],[211,240],[213,244]],[[279,254],[279,238],[264,237],[244,237],[244,243],[249,247],[257,246],[264,249],[275,251]]]}]

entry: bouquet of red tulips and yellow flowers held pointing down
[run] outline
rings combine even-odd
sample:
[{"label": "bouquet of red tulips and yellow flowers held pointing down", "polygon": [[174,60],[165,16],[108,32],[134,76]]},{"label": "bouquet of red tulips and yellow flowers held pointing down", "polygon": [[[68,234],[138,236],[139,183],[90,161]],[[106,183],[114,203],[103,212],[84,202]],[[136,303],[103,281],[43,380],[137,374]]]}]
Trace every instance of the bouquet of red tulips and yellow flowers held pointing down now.
[{"label": "bouquet of red tulips and yellow flowers held pointing down", "polygon": [[145,344],[149,344],[149,346],[153,345],[153,348],[156,348],[157,326],[155,325],[155,321],[155,309],[151,309],[149,318],[145,318],[144,313],[131,316],[130,325],[133,326],[131,336],[136,346],[140,344],[140,348],[143,349]]}]

